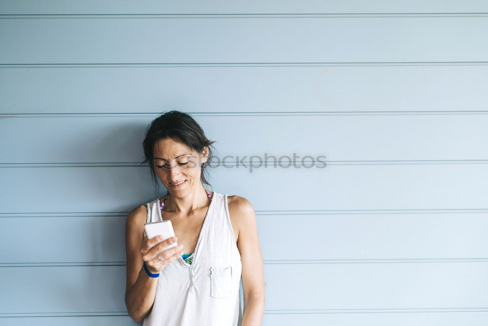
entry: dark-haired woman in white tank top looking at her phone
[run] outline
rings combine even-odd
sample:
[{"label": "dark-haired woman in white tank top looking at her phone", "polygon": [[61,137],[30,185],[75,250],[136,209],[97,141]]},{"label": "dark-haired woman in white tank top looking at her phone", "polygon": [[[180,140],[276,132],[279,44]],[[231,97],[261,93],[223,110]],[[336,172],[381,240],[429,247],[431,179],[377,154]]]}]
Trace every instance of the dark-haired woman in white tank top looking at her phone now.
[{"label": "dark-haired woman in white tank top looking at her phone", "polygon": [[[154,181],[167,194],[126,220],[129,316],[144,326],[258,326],[264,268],[256,216],[244,197],[205,189],[209,141],[189,115],[155,119],[143,141]],[[145,236],[144,224],[170,220],[176,237]],[[177,242],[168,250],[163,249]],[[244,290],[241,315],[239,282]]]}]

